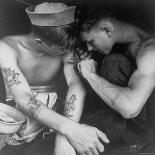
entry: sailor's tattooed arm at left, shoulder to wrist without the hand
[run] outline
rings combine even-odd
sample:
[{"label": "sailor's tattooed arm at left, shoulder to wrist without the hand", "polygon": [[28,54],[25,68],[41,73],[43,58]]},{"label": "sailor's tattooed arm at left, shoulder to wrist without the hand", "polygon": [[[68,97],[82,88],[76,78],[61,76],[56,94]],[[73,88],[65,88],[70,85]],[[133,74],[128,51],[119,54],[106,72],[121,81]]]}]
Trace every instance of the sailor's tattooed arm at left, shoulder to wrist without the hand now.
[{"label": "sailor's tattooed arm at left, shoulder to wrist without the hand", "polygon": [[5,42],[0,43],[0,48],[0,67],[18,107],[45,126],[63,133],[62,126],[70,120],[52,111],[34,97],[18,67],[16,53]]}]

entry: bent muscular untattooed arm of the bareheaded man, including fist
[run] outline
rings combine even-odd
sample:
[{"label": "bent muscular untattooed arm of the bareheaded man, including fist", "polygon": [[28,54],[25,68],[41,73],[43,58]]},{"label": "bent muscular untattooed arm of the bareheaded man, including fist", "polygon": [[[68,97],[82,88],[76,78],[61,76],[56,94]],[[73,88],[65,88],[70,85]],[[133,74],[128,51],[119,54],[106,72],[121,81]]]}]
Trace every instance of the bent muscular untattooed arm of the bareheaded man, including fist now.
[{"label": "bent muscular untattooed arm of the bareheaded man, including fist", "polygon": [[[94,62],[81,62],[81,72],[96,93],[115,111],[125,118],[136,117],[155,86],[155,44],[144,42],[138,50],[137,69],[132,74],[128,87],[111,84],[92,71]],[[90,62],[92,61],[92,62]]]}]

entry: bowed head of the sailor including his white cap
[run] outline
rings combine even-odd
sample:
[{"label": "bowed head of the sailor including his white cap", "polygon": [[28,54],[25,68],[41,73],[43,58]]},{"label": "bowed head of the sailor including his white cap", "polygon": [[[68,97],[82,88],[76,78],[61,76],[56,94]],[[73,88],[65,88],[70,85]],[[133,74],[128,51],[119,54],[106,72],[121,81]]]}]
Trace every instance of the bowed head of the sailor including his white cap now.
[{"label": "bowed head of the sailor including his white cap", "polygon": [[75,6],[47,2],[26,9],[34,40],[40,48],[51,52],[60,49],[58,51],[62,53],[64,49],[72,48],[76,36],[75,9]]}]

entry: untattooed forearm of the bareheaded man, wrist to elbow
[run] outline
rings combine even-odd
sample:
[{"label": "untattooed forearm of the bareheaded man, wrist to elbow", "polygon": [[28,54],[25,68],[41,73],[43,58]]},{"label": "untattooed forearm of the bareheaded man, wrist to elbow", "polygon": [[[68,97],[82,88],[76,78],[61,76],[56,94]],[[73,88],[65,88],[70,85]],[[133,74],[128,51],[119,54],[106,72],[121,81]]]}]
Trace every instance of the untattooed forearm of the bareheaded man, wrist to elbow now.
[{"label": "untattooed forearm of the bareheaded man, wrist to elbow", "polygon": [[108,106],[123,116],[128,113],[132,107],[130,99],[125,95],[129,94],[129,88],[113,85],[94,73],[89,74],[86,79]]}]

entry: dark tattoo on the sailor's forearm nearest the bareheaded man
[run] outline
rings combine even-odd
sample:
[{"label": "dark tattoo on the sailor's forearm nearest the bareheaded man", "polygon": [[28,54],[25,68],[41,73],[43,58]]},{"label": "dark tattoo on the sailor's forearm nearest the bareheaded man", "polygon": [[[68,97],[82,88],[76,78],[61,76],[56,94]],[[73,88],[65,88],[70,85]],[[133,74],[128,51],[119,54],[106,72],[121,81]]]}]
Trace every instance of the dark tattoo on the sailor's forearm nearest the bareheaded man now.
[{"label": "dark tattoo on the sailor's forearm nearest the bareheaded man", "polygon": [[68,118],[73,117],[73,112],[75,110],[75,101],[76,101],[76,95],[72,95],[68,102],[65,103],[64,106],[64,115]]}]

